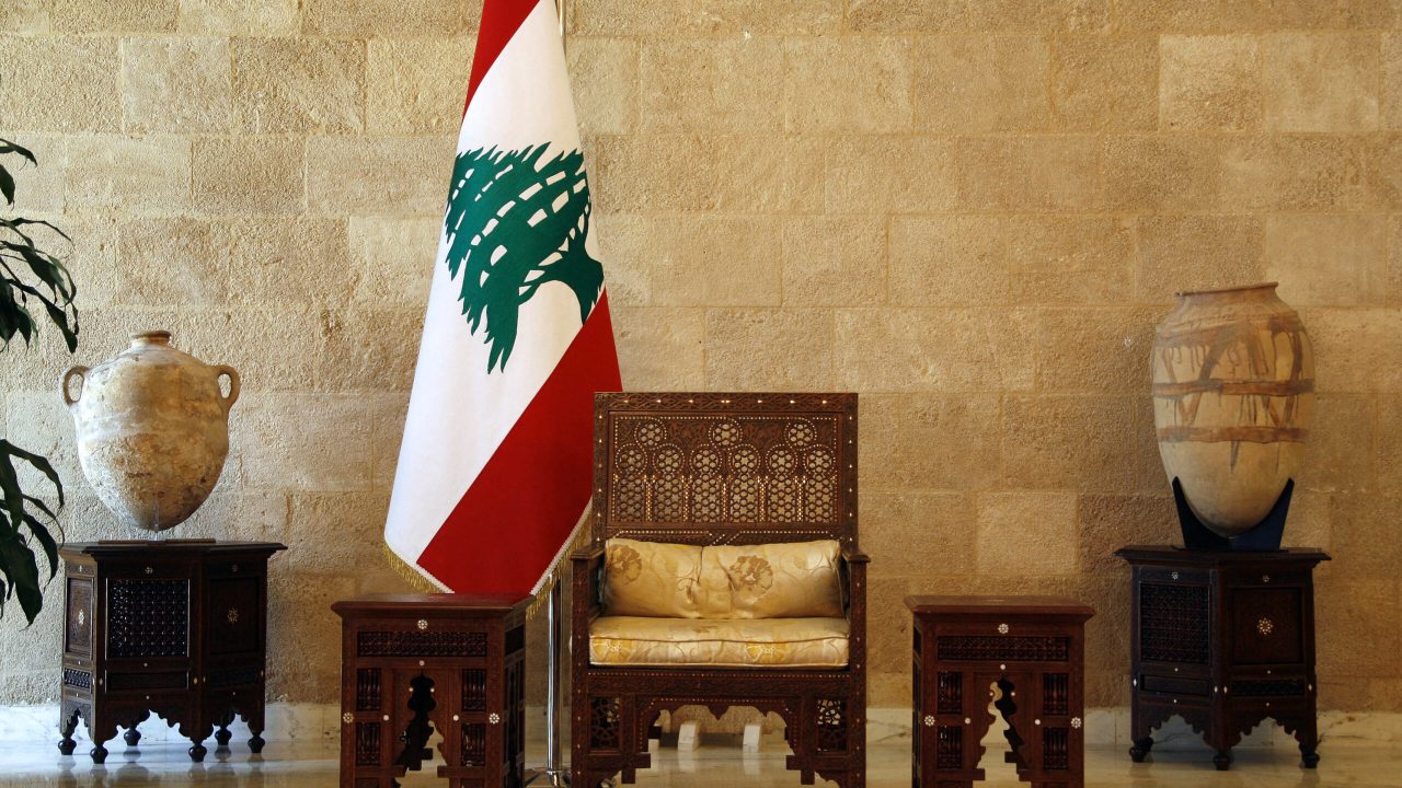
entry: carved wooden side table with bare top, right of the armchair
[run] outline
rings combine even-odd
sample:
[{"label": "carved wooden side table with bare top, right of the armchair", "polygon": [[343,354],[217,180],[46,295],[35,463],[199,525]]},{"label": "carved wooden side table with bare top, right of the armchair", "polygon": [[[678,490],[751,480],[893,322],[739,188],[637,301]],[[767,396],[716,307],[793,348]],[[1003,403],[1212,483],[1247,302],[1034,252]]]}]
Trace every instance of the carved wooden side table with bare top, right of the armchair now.
[{"label": "carved wooden side table with bare top, right of the armchair", "polygon": [[969,788],[993,715],[1018,777],[1080,788],[1085,621],[1095,609],[1054,596],[911,596],[916,614],[913,784]]}]

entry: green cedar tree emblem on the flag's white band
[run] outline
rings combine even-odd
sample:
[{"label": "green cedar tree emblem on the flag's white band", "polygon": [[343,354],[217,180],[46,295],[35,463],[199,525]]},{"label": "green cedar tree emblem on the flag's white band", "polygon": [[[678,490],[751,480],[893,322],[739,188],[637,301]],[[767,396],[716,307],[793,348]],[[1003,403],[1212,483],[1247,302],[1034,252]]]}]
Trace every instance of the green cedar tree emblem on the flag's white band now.
[{"label": "green cedar tree emblem on the flag's white band", "polygon": [[491,344],[488,373],[506,369],[520,307],[541,285],[573,290],[580,322],[603,290],[603,265],[585,251],[585,157],[579,150],[550,154],[548,147],[468,150],[453,167],[443,219],[447,268],[461,279],[468,327],[472,334],[481,327]]}]

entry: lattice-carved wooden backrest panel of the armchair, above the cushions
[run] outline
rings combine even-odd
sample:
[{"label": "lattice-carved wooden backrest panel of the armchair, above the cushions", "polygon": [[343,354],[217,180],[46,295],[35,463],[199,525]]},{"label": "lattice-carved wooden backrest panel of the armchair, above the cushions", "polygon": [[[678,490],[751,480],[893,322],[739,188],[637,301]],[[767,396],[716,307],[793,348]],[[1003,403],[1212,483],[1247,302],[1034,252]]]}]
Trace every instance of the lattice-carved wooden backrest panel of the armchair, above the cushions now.
[{"label": "lattice-carved wooden backrest panel of the armchair, above the cushions", "polygon": [[851,531],[852,395],[600,395],[597,412],[601,538],[715,533],[690,524],[774,526],[792,538]]}]

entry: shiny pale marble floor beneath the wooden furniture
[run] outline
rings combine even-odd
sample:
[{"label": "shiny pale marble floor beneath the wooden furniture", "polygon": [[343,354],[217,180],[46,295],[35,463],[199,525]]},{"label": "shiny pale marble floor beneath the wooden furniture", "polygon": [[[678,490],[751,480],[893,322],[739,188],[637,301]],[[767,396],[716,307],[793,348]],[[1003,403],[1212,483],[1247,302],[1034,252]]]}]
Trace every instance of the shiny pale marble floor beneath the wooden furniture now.
[{"label": "shiny pale marble floor beneath the wooden furniture", "polygon": [[[140,754],[125,750],[121,739],[112,742],[107,764],[94,767],[83,754],[59,756],[52,743],[32,746],[0,743],[0,787],[88,787],[88,785],[210,785],[245,788],[321,788],[336,785],[336,752],[329,742],[269,742],[262,756],[210,752],[203,764],[191,764],[185,747],[156,743]],[[531,752],[541,752],[533,747]],[[785,747],[781,740],[765,740],[765,752],[742,756],[739,746],[728,742],[707,743],[694,753],[663,747],[652,770],[641,773],[639,787],[702,788],[725,785],[788,787],[798,785],[798,774],[784,770]],[[873,742],[869,749],[872,788],[910,785],[910,743],[904,736]],[[1155,752],[1152,763],[1134,764],[1122,747],[1095,746],[1087,750],[1088,787],[1130,788],[1396,788],[1402,785],[1402,746],[1338,743],[1321,746],[1318,771],[1298,766],[1293,749],[1239,749],[1231,771],[1213,770],[1211,753],[1202,750]],[[1019,785],[1002,754],[991,750],[984,757],[987,785]],[[432,774],[411,774],[405,788],[442,785]],[[823,784],[822,781],[819,782]],[[1023,784],[1025,785],[1025,784]]]}]

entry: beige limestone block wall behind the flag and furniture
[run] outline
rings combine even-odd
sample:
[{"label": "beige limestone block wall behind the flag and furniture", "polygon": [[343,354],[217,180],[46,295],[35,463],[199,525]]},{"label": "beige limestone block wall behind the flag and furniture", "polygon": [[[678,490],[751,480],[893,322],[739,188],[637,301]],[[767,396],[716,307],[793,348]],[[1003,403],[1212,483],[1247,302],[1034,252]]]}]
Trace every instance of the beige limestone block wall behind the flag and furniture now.
[{"label": "beige limestone block wall behind the flag and furniture", "polygon": [[[292,547],[276,697],[332,701],[327,606],[401,587],[379,533],[478,8],[0,4],[79,359],[170,328],[244,374],[178,536]],[[963,589],[1092,602],[1088,700],[1126,702],[1109,554],[1176,527],[1151,328],[1279,279],[1319,356],[1287,538],[1335,555],[1322,701],[1402,711],[1402,4],[573,0],[569,29],[627,384],[862,394],[873,704],[908,697],[901,597]],[[67,363],[0,355],[4,432],[57,461],[70,538],[132,536],[79,473]],[[55,613],[0,624],[0,704],[55,697]]]}]

